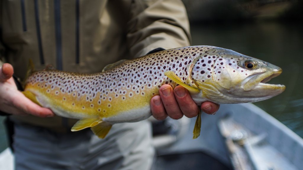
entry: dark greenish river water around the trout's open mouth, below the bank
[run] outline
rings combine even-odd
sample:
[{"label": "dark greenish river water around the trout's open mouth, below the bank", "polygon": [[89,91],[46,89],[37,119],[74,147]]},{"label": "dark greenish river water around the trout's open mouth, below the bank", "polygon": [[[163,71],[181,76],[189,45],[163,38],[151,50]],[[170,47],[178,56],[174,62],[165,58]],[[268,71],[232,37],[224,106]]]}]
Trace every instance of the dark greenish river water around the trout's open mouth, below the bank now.
[{"label": "dark greenish river water around the trout's open mouth, below the bank", "polygon": [[[303,137],[303,26],[294,23],[191,25],[193,45],[213,45],[265,60],[283,69],[270,81],[284,84],[285,92],[255,105]],[[0,117],[2,122],[3,117]],[[7,147],[0,123],[0,151]]]}]

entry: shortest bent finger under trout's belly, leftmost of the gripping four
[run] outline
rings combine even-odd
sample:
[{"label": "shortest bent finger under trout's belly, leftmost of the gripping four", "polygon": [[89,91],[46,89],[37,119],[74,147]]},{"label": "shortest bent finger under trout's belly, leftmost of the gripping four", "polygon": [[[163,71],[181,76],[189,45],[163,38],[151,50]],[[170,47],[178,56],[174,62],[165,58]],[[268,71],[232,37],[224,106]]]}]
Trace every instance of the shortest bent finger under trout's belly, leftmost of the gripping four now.
[{"label": "shortest bent finger under trout's belly, leftmost of the gripping four", "polygon": [[151,113],[157,120],[164,120],[167,117],[167,113],[165,111],[165,107],[161,101],[160,96],[154,96],[151,98]]}]

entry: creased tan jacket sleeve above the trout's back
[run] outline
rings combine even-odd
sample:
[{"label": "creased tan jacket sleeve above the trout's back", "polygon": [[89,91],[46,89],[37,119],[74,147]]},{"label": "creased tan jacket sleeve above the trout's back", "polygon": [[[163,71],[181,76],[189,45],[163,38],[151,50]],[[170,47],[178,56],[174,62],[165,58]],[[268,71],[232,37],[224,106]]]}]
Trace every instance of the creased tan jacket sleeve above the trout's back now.
[{"label": "creased tan jacket sleeve above the trout's back", "polygon": [[135,57],[158,47],[190,45],[189,21],[181,0],[135,0],[127,26],[130,54]]}]

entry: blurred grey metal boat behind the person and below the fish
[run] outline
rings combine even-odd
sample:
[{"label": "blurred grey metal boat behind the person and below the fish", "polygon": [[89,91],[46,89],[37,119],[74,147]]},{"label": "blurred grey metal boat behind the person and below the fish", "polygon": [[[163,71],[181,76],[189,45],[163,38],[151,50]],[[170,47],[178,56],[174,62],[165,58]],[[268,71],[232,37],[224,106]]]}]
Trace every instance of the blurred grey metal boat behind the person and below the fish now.
[{"label": "blurred grey metal boat behind the person and below the fish", "polygon": [[[254,104],[222,104],[201,119],[197,139],[195,118],[165,121],[169,130],[153,141],[153,170],[303,169],[303,139]],[[14,169],[13,162],[10,149],[0,154],[0,170]]]}]

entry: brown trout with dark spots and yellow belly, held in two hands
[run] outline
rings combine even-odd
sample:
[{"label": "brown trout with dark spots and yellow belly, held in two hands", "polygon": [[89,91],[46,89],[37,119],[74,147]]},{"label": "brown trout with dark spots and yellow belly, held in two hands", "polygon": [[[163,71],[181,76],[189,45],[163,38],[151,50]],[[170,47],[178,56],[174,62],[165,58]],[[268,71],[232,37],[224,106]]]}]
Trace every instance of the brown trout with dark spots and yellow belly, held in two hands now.
[{"label": "brown trout with dark spots and yellow belly, held in two hands", "polygon": [[[273,64],[232,50],[191,46],[121,60],[95,74],[32,68],[23,94],[56,115],[80,119],[72,131],[90,127],[104,138],[115,123],[150,117],[150,100],[163,84],[182,85],[198,105],[248,103],[282,93],[284,85],[266,83],[281,72]],[[200,127],[201,113],[194,138]]]}]

